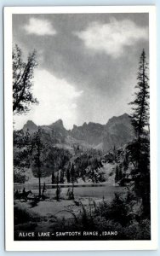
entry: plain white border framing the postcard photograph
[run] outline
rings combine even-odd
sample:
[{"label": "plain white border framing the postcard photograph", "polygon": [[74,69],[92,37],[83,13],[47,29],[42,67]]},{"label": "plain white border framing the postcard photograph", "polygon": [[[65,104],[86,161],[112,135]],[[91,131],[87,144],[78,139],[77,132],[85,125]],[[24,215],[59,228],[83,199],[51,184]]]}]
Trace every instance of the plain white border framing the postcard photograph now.
[{"label": "plain white border framing the postcard photograph", "polygon": [[[151,241],[14,241],[12,15],[58,13],[149,13],[151,84]],[[7,251],[87,251],[157,249],[157,84],[155,6],[67,6],[4,8],[5,249]]]}]

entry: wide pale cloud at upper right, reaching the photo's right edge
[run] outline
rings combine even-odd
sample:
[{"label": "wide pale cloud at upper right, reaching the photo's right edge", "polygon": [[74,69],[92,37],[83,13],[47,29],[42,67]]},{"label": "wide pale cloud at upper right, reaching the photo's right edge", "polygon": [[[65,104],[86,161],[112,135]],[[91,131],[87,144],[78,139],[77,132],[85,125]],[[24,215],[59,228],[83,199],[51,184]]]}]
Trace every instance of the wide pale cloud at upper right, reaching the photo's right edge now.
[{"label": "wide pale cloud at upper right, reaching the photo's right edge", "polygon": [[148,40],[148,28],[137,26],[132,20],[116,20],[109,23],[92,22],[82,32],[75,33],[88,49],[105,52],[114,58],[123,54],[126,46],[132,46],[140,40]]}]

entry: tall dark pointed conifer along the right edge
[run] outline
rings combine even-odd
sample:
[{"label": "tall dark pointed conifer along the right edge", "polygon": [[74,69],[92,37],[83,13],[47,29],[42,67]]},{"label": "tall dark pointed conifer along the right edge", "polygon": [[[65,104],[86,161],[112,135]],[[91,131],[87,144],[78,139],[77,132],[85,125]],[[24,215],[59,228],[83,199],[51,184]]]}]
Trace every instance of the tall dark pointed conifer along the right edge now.
[{"label": "tall dark pointed conifer along the right edge", "polygon": [[150,213],[150,142],[149,142],[149,78],[146,53],[140,55],[131,122],[136,138],[129,144],[130,160],[134,164],[132,177],[137,195],[142,198],[144,213]]}]

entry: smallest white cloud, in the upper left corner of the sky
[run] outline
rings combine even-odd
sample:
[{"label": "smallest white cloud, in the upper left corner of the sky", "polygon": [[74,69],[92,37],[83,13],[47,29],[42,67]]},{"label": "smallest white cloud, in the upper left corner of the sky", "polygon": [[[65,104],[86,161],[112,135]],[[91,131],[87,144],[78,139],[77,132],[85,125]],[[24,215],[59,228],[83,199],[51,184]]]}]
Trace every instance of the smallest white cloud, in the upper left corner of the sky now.
[{"label": "smallest white cloud, in the upper left corner of the sky", "polygon": [[54,27],[49,20],[41,20],[37,18],[30,18],[28,24],[24,26],[28,34],[35,34],[37,36],[53,36],[56,34]]}]

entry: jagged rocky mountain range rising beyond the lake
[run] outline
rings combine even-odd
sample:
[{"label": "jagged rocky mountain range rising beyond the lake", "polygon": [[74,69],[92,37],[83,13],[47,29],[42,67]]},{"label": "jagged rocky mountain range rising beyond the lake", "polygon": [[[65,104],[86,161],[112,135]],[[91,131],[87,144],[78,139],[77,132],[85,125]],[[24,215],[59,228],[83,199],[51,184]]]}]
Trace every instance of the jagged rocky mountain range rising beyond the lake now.
[{"label": "jagged rocky mountain range rising beyond the lake", "polygon": [[[46,133],[46,139],[50,138],[50,142],[66,148],[80,145],[83,148],[97,148],[107,152],[111,148],[129,143],[134,137],[134,130],[127,113],[112,117],[106,125],[89,122],[82,126],[73,125],[70,131],[66,130],[61,119],[52,125],[42,125],[41,127]],[[32,133],[37,131],[37,128],[38,126],[29,120],[23,130],[28,129]]]}]

